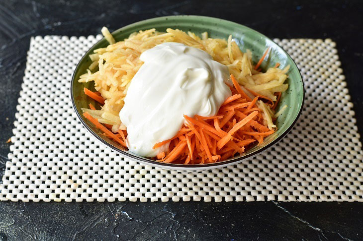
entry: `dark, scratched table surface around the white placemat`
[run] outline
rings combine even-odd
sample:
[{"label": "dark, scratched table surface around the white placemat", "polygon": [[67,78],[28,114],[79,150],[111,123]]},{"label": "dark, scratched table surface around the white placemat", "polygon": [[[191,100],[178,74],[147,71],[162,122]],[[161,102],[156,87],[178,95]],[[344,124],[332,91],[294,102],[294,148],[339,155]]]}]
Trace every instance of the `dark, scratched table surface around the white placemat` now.
[{"label": "dark, scratched table surface around the white placemat", "polygon": [[[271,38],[331,38],[362,136],[361,0],[0,0],[0,177],[31,36],[95,35],[179,14],[228,19]],[[5,240],[363,240],[363,203],[0,202]]]}]

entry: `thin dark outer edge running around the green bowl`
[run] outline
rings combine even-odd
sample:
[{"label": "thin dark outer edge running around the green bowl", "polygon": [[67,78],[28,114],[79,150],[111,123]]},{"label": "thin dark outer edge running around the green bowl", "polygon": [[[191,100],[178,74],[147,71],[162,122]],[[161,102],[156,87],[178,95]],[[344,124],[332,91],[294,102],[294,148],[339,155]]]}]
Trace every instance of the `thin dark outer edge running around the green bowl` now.
[{"label": "thin dark outer edge running around the green bowl", "polygon": [[[157,17],[157,18],[154,18],[154,19],[158,19],[158,18],[173,18],[173,17],[180,17],[180,16],[195,16],[195,17],[202,17],[202,18],[210,18],[210,19],[219,19],[219,20],[229,21],[229,20],[220,19],[220,18],[213,18],[213,17],[206,17],[206,16],[197,16],[197,15],[163,16],[163,17]],[[150,20],[150,19],[146,19],[146,20]],[[139,21],[139,22],[143,22],[143,21],[146,21],[146,20],[142,20],[142,21]],[[139,22],[136,22],[136,23],[139,23]],[[235,22],[232,22],[232,21],[229,21],[229,22],[235,23]],[[133,24],[136,24],[136,23],[133,23]],[[235,24],[239,24],[239,23],[235,23]],[[242,24],[239,24],[239,25],[242,25]],[[126,25],[124,27],[127,27],[127,26],[129,26],[129,25]],[[244,25],[242,25],[242,26],[244,26]],[[122,27],[122,28],[124,28],[124,27]],[[244,26],[244,27],[249,28],[247,26]],[[252,30],[254,30],[254,29],[252,29]],[[256,31],[256,30],[254,30],[254,31]],[[258,31],[256,31],[256,32],[258,32]],[[264,34],[262,34],[260,32],[258,32],[258,33],[261,34],[261,35],[263,35],[267,39],[271,40],[273,43],[275,43],[272,39],[270,39],[269,37],[265,36]],[[94,45],[98,44],[103,39],[99,40]],[[281,46],[279,46],[278,44],[276,44],[276,45],[283,50],[283,52],[294,62],[295,66],[297,67],[295,61],[290,57],[290,55],[287,54],[287,52]],[[90,49],[92,49],[93,46]],[[248,155],[245,155],[245,156],[242,156],[242,157],[238,157],[236,159],[229,160],[229,161],[215,162],[215,163],[206,163],[206,164],[194,164],[194,165],[184,165],[184,164],[173,164],[173,163],[157,162],[157,161],[150,160],[150,159],[146,159],[146,158],[142,158],[142,157],[139,157],[139,156],[134,156],[134,155],[129,154],[129,153],[123,151],[123,150],[118,149],[117,147],[114,147],[114,146],[110,145],[109,143],[107,143],[106,141],[104,141],[102,138],[100,138],[96,133],[94,133],[91,130],[91,128],[86,124],[86,122],[82,119],[81,115],[77,111],[76,103],[74,101],[74,96],[73,96],[73,83],[76,81],[75,80],[76,69],[78,69],[78,66],[80,65],[80,63],[82,62],[82,60],[85,59],[85,58],[87,58],[87,53],[88,53],[88,51],[86,52],[86,54],[81,58],[81,60],[77,64],[77,66],[75,68],[75,71],[73,72],[73,76],[72,76],[72,80],[71,80],[71,88],[70,88],[70,91],[71,91],[71,100],[72,100],[72,105],[73,105],[73,108],[74,108],[74,110],[76,112],[76,115],[81,120],[81,122],[85,126],[85,128],[89,132],[91,132],[91,134],[94,137],[96,137],[96,139],[99,140],[101,143],[103,143],[104,145],[108,146],[112,150],[118,152],[122,156],[130,157],[131,159],[136,159],[137,161],[139,161],[141,163],[158,165],[158,166],[164,166],[166,168],[167,167],[170,167],[170,168],[185,169],[185,171],[186,170],[190,170],[190,167],[193,167],[193,168],[206,168],[206,167],[209,167],[210,168],[210,167],[218,167],[218,166],[221,166],[221,165],[225,166],[226,164],[231,164],[231,165],[232,164],[237,164],[237,163],[240,163],[241,161],[243,161],[245,159],[249,159],[249,158],[252,158],[254,156],[257,156],[257,155],[261,154],[262,152],[268,150],[270,147],[272,147],[274,144],[276,144],[278,141],[280,141],[292,129],[292,127],[296,124],[296,122],[299,119],[299,117],[300,117],[300,115],[302,113],[302,110],[303,110],[304,101],[305,101],[305,86],[304,86],[304,81],[302,79],[300,70],[298,69],[299,70],[298,72],[299,72],[299,75],[300,75],[300,78],[301,78],[301,82],[302,82],[302,90],[303,90],[302,103],[301,103],[301,108],[299,110],[299,113],[297,114],[297,116],[296,116],[295,120],[292,122],[292,124],[280,136],[278,136],[276,139],[274,139],[272,142],[270,142],[268,145],[266,145],[265,147],[261,148],[260,150],[257,150],[256,152],[253,152],[253,153],[250,153]]]}]

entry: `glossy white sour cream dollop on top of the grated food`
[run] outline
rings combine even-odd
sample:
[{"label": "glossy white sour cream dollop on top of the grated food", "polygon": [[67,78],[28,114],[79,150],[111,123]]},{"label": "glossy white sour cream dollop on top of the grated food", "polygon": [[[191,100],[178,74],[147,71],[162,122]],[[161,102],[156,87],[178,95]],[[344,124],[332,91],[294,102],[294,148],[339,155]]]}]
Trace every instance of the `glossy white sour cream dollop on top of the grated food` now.
[{"label": "glossy white sour cream dollop on top of the grated food", "polygon": [[145,51],[144,64],[133,77],[120,111],[127,127],[126,145],[144,157],[167,151],[185,119],[183,115],[210,117],[217,114],[231,90],[224,83],[226,65],[206,52],[180,43],[163,43]]}]

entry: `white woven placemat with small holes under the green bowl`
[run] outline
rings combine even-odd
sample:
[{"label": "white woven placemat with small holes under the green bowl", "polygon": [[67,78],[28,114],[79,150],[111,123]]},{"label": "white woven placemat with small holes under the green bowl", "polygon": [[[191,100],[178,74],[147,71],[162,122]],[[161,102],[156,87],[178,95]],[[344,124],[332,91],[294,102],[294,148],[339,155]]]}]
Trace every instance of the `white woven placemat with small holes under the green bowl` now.
[{"label": "white woven placemat with small holes under the green bowl", "polygon": [[77,120],[71,76],[99,38],[31,39],[0,200],[363,201],[362,144],[331,40],[275,40],[306,88],[300,119],[277,145],[238,165],[178,173],[123,160]]}]

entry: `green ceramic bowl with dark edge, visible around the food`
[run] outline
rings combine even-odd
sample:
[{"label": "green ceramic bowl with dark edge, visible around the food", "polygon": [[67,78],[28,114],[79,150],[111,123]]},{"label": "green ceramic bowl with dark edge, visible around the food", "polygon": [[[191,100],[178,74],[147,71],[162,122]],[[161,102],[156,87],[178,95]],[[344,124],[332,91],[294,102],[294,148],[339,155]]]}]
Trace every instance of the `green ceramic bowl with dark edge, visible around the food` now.
[{"label": "green ceramic bowl with dark edge, visible around the food", "polygon": [[100,135],[100,131],[94,128],[94,126],[82,116],[81,108],[88,108],[89,103],[92,103],[95,106],[98,106],[98,104],[94,103],[89,97],[87,97],[83,93],[84,87],[87,87],[91,90],[94,89],[93,82],[84,84],[78,83],[77,80],[79,79],[79,76],[81,74],[86,72],[86,69],[91,64],[89,55],[93,52],[93,50],[103,48],[108,45],[107,41],[103,38],[85,54],[85,56],[77,65],[71,82],[71,98],[73,102],[73,107],[75,108],[77,116],[81,120],[83,125],[91,132],[91,134],[93,134],[107,147],[118,152],[124,157],[161,168],[189,171],[205,170],[236,164],[244,160],[250,159],[258,154],[261,154],[263,151],[267,150],[272,145],[276,144],[279,140],[281,140],[281,138],[285,136],[295,124],[302,111],[304,103],[304,85],[300,72],[291,57],[281,47],[279,47],[276,43],[274,43],[265,35],[246,26],[223,19],[189,15],[158,17],[140,21],[122,27],[114,31],[112,35],[117,42],[127,38],[131,33],[135,31],[146,30],[150,28],[156,28],[158,31],[166,31],[167,28],[178,28],[183,31],[192,31],[196,34],[207,31],[211,38],[224,39],[227,39],[228,36],[232,34],[233,39],[236,41],[242,51],[245,52],[247,49],[250,49],[252,51],[253,60],[255,62],[257,62],[259,58],[261,58],[261,56],[264,54],[264,51],[268,47],[271,47],[272,52],[269,55],[270,57],[267,61],[265,60],[262,63],[261,67],[263,69],[267,69],[268,67],[274,66],[277,62],[281,64],[280,66],[282,68],[290,64],[291,67],[288,72],[289,78],[287,79],[289,88],[286,92],[282,94],[281,101],[276,108],[278,111],[280,107],[286,104],[287,109],[283,112],[282,115],[278,117],[275,122],[275,124],[277,125],[277,131],[272,135],[268,136],[262,145],[251,148],[244,155],[236,156],[223,162],[198,165],[181,165],[171,163],[159,163],[154,160],[138,156],[116,144],[115,142],[111,141],[110,139]]}]

